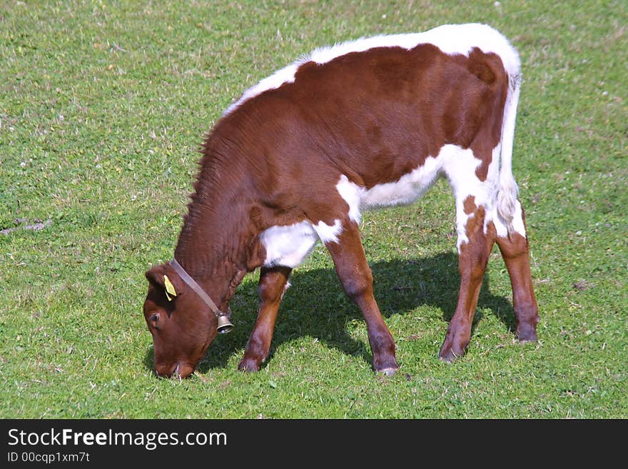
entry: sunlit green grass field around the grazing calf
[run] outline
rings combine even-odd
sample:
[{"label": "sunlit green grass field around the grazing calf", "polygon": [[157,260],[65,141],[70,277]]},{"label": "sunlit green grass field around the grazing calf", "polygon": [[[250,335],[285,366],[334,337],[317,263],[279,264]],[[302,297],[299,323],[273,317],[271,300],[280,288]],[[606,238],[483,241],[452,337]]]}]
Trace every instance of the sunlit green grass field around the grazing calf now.
[{"label": "sunlit green grass field around the grazing calf", "polygon": [[[440,182],[363,218],[393,378],[322,246],[259,373],[236,370],[251,274],[198,373],[156,378],[143,273],[173,254],[222,111],[316,46],[470,21],[522,56],[540,341],[514,340],[495,250],[467,355],[438,360],[459,278]],[[0,1],[0,418],[628,418],[627,25],[625,1]]]}]

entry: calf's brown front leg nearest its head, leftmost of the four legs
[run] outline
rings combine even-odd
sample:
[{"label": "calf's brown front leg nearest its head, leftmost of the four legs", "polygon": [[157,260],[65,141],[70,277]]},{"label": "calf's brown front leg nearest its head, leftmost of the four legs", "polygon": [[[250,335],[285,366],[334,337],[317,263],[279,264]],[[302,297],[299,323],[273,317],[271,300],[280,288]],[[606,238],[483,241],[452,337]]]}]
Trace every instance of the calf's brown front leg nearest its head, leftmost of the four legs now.
[{"label": "calf's brown front leg nearest its head, leftmost of the four legs", "polygon": [[258,294],[260,296],[258,319],[255,322],[253,332],[250,333],[244,356],[240,360],[238,369],[257,371],[261,363],[268,357],[279,304],[283,297],[285,286],[288,284],[291,271],[291,268],[283,266],[261,268],[258,286]]}]

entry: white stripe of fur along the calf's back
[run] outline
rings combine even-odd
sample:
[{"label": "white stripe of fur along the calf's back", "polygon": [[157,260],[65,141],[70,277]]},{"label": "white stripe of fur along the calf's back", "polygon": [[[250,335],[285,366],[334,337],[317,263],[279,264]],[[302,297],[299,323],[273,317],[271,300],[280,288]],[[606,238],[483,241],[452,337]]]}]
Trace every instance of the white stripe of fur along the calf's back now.
[{"label": "white stripe of fur along the calf's back", "polygon": [[273,75],[251,86],[236,102],[231,104],[223,115],[231,113],[240,104],[248,99],[262,94],[270,89],[277,89],[285,83],[293,83],[298,68],[309,61],[317,64],[326,64],[340,56],[351,52],[363,52],[375,47],[402,47],[413,49],[419,44],[433,44],[445,54],[463,54],[468,56],[474,47],[485,53],[495,53],[501,57],[509,75],[517,75],[520,70],[520,59],[517,51],[510,45],[508,39],[499,31],[486,24],[445,24],[422,33],[389,34],[348,41],[330,47],[315,49],[310,54],[302,56]]}]

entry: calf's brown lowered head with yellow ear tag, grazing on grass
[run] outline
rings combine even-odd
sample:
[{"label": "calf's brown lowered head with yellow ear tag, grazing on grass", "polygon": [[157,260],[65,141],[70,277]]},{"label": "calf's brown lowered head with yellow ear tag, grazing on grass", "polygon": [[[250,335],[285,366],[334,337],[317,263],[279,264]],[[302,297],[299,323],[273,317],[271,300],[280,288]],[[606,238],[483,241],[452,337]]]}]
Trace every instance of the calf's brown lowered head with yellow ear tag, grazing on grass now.
[{"label": "calf's brown lowered head with yellow ear tag, grazing on grass", "polygon": [[144,318],[153,336],[159,376],[191,375],[218,328],[216,315],[168,264],[146,272]]}]

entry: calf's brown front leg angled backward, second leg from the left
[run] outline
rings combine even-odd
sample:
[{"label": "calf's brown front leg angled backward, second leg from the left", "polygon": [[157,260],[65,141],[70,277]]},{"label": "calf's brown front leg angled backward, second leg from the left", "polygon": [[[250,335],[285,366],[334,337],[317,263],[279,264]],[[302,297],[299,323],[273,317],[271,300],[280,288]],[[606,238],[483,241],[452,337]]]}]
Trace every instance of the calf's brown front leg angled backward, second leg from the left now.
[{"label": "calf's brown front leg angled backward, second leg from the left", "polygon": [[395,359],[395,341],[373,296],[373,273],[366,261],[357,223],[345,219],[338,242],[327,241],[325,246],[331,254],[345,293],[358,305],[365,318],[368,341],[373,352],[373,368],[378,373],[393,375],[399,368]]}]

